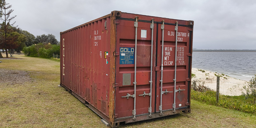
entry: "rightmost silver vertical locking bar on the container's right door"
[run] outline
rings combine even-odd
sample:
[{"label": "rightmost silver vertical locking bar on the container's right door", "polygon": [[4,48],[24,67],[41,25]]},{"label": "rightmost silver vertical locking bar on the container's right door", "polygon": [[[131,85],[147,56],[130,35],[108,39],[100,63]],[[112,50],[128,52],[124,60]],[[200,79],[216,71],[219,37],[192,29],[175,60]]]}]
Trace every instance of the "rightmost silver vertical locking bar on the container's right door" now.
[{"label": "rightmost silver vertical locking bar on the container's right door", "polygon": [[173,112],[176,112],[176,72],[177,72],[177,44],[178,44],[178,21],[176,21],[176,26],[175,26],[175,31],[176,31],[176,39],[175,39],[175,70],[174,70],[174,100],[172,104]]}]

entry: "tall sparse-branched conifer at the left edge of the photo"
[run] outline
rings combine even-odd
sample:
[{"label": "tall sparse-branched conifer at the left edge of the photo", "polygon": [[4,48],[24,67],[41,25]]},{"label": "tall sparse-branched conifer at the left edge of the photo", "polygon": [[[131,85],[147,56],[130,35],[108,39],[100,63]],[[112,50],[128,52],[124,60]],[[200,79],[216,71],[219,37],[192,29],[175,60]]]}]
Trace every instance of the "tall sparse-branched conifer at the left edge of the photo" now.
[{"label": "tall sparse-branched conifer at the left edge of the photo", "polygon": [[[5,0],[3,0],[3,4],[1,7],[1,12],[3,16],[0,17],[0,19],[3,20],[3,23],[1,24],[1,29],[0,29],[0,42],[1,42],[0,48],[5,48],[5,50],[11,47],[14,48],[13,47],[14,45],[12,45],[12,43],[16,42],[16,40],[18,39],[17,35],[15,36],[15,34],[11,34],[15,32],[14,28],[17,28],[17,27],[13,27],[13,24],[15,22],[12,24],[10,23],[11,20],[13,20],[16,17],[16,15],[13,17],[10,17],[10,14],[13,12],[13,10],[10,9],[11,7],[12,5],[9,5],[9,3],[6,3]],[[7,52],[6,52],[6,57],[8,57]]]}]

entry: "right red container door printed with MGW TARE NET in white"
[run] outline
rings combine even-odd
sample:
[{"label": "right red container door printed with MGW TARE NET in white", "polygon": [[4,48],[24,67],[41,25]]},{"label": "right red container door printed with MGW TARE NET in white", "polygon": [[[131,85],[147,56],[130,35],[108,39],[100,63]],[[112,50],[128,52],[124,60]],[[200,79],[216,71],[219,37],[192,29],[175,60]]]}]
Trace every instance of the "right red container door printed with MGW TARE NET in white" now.
[{"label": "right red container door printed with MGW TARE NET in white", "polygon": [[160,111],[161,115],[164,110],[175,111],[187,107],[191,54],[188,27],[162,22],[158,24],[158,28],[156,65],[159,71],[156,72],[156,111]]}]

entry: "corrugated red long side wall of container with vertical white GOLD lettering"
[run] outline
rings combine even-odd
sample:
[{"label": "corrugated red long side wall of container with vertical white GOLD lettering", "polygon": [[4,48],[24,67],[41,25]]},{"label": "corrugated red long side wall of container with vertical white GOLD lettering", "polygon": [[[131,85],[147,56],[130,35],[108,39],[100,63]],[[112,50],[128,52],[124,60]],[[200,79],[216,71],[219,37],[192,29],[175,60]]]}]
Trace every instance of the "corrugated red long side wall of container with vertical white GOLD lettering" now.
[{"label": "corrugated red long side wall of container with vertical white GOLD lettering", "polygon": [[64,40],[61,43],[61,83],[106,116],[109,115],[110,33],[104,25],[109,19],[61,34]]}]

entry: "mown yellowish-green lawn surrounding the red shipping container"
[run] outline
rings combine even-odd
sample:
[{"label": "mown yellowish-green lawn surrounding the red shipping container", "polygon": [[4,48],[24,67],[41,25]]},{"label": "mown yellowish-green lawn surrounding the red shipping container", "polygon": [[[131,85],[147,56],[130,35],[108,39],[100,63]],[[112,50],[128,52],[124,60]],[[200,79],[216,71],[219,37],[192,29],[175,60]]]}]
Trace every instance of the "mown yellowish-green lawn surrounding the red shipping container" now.
[{"label": "mown yellowish-green lawn surrounding the red shipping container", "polygon": [[[23,84],[0,85],[0,127],[106,127],[97,114],[57,86],[60,84],[59,62],[16,54],[15,57],[23,59],[1,60],[0,68],[28,71],[33,79]],[[191,100],[190,114],[180,113],[120,127],[247,128],[256,127],[256,115]]]}]

